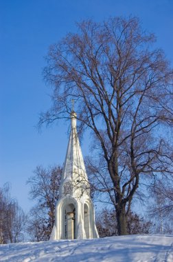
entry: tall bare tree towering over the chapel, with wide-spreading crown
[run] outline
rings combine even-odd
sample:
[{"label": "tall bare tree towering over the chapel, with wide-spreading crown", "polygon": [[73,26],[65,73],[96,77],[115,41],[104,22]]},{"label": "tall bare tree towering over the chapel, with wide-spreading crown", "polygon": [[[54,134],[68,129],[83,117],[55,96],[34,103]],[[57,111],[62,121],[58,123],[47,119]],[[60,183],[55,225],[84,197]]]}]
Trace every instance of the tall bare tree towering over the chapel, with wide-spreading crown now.
[{"label": "tall bare tree towering over the chapel, with wide-spreading crown", "polygon": [[173,71],[154,40],[135,17],[82,21],[49,48],[44,71],[53,105],[40,124],[69,118],[76,101],[80,130],[91,130],[111,178],[118,234],[141,179],[172,174]]}]

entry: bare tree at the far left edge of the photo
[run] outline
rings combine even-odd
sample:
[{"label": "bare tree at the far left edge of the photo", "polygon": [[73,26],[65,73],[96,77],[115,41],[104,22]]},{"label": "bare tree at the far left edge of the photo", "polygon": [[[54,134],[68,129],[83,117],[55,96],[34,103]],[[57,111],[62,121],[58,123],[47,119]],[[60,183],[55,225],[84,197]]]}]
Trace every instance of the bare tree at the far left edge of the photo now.
[{"label": "bare tree at the far left edge of the photo", "polygon": [[23,241],[26,223],[27,215],[10,196],[10,187],[6,183],[0,188],[0,243]]}]

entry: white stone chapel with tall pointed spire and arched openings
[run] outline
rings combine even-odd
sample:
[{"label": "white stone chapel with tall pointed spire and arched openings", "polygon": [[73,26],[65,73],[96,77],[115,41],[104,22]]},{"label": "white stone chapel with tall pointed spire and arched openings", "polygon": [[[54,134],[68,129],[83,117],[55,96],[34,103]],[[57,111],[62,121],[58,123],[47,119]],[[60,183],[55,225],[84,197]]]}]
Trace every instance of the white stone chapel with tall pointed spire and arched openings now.
[{"label": "white stone chapel with tall pointed spire and arched openings", "polygon": [[76,112],[71,112],[71,133],[62,171],[60,199],[50,239],[98,238],[93,203],[84,159],[76,130]]}]

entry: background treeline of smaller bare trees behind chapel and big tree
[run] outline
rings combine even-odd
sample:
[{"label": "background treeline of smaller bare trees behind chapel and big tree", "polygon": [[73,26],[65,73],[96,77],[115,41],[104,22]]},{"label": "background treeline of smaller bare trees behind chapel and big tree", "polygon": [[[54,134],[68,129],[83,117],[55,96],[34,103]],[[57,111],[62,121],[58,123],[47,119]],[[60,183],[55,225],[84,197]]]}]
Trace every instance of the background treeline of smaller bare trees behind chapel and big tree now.
[{"label": "background treeline of smaller bare trees behind chapel and big tree", "polygon": [[[60,166],[47,169],[42,166],[36,168],[33,176],[27,181],[30,186],[30,199],[36,202],[29,214],[25,214],[16,199],[12,198],[8,183],[0,188],[1,244],[49,240],[54,225],[61,174]],[[92,188],[92,185],[91,189],[93,201],[98,201],[100,192]],[[172,181],[158,180],[149,192],[150,197],[141,196],[141,201],[147,210],[145,216],[140,216],[132,210],[127,212],[128,234],[172,234]],[[102,192],[102,196],[102,199],[106,197],[105,192]],[[104,200],[100,199],[100,201],[104,207]],[[100,237],[118,235],[116,211],[111,208],[111,205],[98,211],[96,209],[95,220]]]}]

